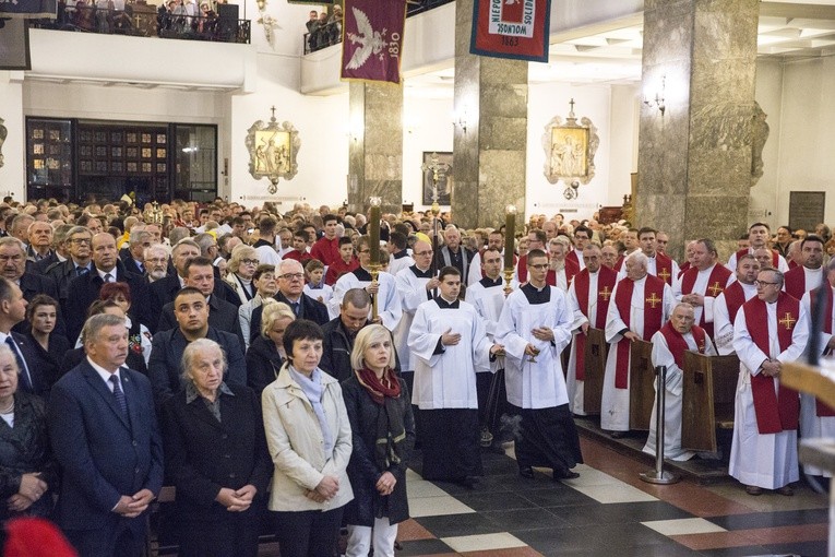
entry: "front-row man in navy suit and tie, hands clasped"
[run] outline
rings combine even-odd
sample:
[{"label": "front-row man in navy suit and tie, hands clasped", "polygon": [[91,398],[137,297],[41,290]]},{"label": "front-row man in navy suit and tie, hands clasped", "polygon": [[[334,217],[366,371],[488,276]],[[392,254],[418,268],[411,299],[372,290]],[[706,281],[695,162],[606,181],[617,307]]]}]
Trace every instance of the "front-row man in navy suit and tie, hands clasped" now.
[{"label": "front-row man in navy suit and tie, hands clasped", "polygon": [[151,384],[122,367],[123,319],[94,316],[84,332],[87,358],[49,399],[49,436],[63,470],[56,519],[82,557],[139,557],[144,513],[163,486]]}]

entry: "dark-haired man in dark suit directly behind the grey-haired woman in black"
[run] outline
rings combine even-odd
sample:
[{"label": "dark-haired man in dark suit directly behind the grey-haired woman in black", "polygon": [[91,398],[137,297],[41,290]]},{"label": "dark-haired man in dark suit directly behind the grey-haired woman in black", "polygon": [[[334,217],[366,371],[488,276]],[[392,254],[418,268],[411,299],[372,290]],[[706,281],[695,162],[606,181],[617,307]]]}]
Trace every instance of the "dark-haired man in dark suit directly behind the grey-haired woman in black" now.
[{"label": "dark-haired man in dark suit directly behind the grey-haired woman in black", "polygon": [[227,382],[247,384],[243,344],[237,335],[210,325],[208,304],[201,291],[190,286],[182,288],[174,299],[174,315],[177,327],[154,335],[147,366],[158,408],[180,390],[182,353],[190,342],[198,339],[211,339],[223,346],[228,362],[224,378]]}]

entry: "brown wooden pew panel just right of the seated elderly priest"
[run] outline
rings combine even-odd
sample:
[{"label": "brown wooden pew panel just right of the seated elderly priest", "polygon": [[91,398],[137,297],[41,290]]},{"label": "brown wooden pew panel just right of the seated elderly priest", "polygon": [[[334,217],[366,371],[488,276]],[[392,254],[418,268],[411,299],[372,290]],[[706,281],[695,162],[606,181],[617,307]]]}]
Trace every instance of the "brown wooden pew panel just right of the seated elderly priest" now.
[{"label": "brown wooden pew panel just right of the seated elderly priest", "polygon": [[733,429],[739,358],[684,353],[681,447],[716,452],[716,428]]}]

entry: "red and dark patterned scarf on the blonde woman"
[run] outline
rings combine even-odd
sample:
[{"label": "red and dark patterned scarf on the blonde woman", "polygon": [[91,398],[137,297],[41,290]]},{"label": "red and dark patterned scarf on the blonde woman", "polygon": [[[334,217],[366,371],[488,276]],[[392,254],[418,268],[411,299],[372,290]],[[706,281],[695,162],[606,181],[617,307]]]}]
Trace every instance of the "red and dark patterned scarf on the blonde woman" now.
[{"label": "red and dark patterned scarf on the blonde woman", "polygon": [[401,383],[391,368],[386,368],[382,380],[363,367],[355,371],[361,384],[377,405],[377,432],[374,434],[374,462],[380,470],[389,470],[398,464],[404,452],[406,429],[403,415],[397,404],[401,396]]}]

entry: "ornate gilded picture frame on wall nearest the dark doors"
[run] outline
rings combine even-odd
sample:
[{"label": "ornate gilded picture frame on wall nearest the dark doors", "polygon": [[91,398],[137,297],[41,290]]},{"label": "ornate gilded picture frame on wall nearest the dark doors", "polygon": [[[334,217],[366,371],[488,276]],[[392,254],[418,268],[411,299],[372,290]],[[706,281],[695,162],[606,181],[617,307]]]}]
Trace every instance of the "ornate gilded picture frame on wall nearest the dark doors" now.
[{"label": "ornate gilded picture frame on wall nearest the dark doors", "polygon": [[299,133],[288,122],[278,123],[273,116],[270,122],[254,122],[247,131],[249,174],[257,180],[267,178],[270,193],[278,189],[278,180],[291,180],[299,171],[297,155],[301,147]]}]

